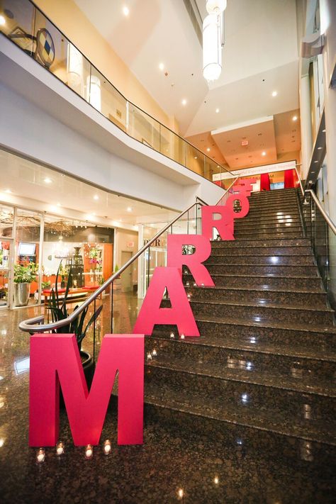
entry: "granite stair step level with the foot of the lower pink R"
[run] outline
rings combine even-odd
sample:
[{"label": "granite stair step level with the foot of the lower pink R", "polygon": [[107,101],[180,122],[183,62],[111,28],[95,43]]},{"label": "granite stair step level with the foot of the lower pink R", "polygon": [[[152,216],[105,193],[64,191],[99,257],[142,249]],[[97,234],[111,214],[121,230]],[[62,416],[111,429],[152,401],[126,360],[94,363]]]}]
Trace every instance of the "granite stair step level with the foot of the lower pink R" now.
[{"label": "granite stair step level with the foot of the lower pink R", "polygon": [[[186,271],[186,270],[184,270]],[[214,269],[215,271],[215,269]],[[279,275],[261,275],[247,276],[246,274],[235,274],[232,269],[230,273],[216,274],[211,273],[211,278],[216,287],[237,287],[250,289],[276,290],[286,289],[301,291],[322,291],[322,283],[319,276],[279,276]],[[190,286],[194,285],[194,277],[191,274],[184,273],[184,285],[189,282]]]}]

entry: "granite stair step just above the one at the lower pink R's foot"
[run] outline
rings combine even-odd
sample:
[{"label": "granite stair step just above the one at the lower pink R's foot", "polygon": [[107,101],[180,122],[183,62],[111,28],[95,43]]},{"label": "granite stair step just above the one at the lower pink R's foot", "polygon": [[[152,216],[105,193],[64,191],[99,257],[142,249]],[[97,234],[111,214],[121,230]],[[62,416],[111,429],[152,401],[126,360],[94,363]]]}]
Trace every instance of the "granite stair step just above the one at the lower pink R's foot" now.
[{"label": "granite stair step just above the one at the lower pink R's foot", "polygon": [[235,271],[232,266],[221,263],[208,263],[206,264],[211,276],[213,274],[234,274],[236,271],[239,275],[245,276],[311,276],[312,278],[318,276],[316,266],[277,266],[276,264],[260,266],[259,264],[235,264]]}]

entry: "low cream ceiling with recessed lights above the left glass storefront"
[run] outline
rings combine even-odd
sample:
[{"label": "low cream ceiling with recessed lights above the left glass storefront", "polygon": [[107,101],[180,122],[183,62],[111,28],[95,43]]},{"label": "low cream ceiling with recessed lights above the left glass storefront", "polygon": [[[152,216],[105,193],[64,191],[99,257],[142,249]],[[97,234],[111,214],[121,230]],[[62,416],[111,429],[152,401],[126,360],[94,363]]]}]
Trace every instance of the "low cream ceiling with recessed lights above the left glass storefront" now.
[{"label": "low cream ceiling with recessed lights above the left glass storefront", "polygon": [[140,222],[167,221],[177,215],[165,208],[96,189],[4,150],[0,150],[0,166],[6,173],[6,179],[0,181],[0,200],[9,203],[30,198],[36,201],[35,210],[43,202],[43,210],[54,215],[69,215],[72,211],[79,220],[121,228]]}]

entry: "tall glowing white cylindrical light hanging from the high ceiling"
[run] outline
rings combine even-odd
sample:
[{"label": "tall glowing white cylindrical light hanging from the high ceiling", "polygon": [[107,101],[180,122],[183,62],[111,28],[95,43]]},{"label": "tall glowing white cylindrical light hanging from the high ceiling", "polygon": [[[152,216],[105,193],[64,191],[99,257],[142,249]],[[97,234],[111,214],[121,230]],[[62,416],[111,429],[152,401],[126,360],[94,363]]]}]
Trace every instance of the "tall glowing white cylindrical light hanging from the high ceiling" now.
[{"label": "tall glowing white cylindrical light hanging from the high ceiling", "polygon": [[203,77],[214,81],[222,72],[223,12],[226,0],[208,0],[203,21]]}]

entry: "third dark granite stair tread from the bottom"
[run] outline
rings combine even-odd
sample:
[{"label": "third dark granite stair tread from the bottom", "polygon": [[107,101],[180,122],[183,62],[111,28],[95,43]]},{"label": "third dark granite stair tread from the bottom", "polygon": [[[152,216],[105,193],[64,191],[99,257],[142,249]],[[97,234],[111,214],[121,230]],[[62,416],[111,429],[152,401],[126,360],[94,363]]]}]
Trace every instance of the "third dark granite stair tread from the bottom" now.
[{"label": "third dark granite stair tread from the bottom", "polygon": [[[202,319],[198,319],[201,321]],[[208,322],[208,320],[206,320]],[[162,333],[155,331],[153,337],[164,338],[167,340],[166,336]],[[219,347],[230,350],[238,350],[241,352],[252,352],[251,359],[253,359],[253,354],[272,354],[279,357],[294,357],[297,359],[313,359],[315,361],[323,362],[336,362],[336,350],[329,348],[317,349],[313,348],[311,345],[305,347],[304,345],[281,345],[276,342],[258,341],[257,337],[254,342],[251,342],[251,337],[246,337],[242,335],[240,338],[237,336],[230,336],[230,334],[225,333],[225,335],[207,334],[206,336],[200,337],[188,337],[186,340],[172,340],[172,342],[181,342],[181,345],[187,343],[188,345],[201,345],[204,347]]]}]

